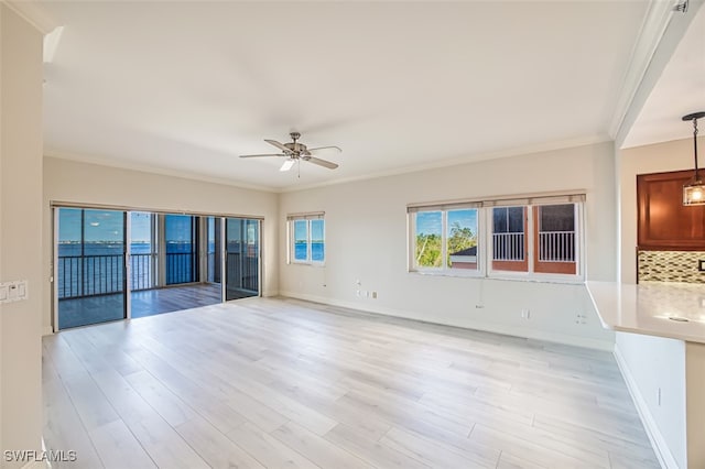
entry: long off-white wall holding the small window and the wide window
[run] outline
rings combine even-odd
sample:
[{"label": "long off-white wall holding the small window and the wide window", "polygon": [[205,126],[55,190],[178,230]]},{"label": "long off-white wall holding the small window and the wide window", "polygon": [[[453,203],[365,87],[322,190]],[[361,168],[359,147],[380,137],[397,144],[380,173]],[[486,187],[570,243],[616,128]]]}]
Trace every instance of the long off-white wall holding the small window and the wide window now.
[{"label": "long off-white wall holding the small window and the wide window", "polygon": [[[586,190],[586,268],[616,276],[614,150],[609,142],[283,194],[286,214],[326,212],[325,268],[282,264],[281,294],[432,323],[611,350],[584,285],[409,273],[406,205],[554,190]],[[286,249],[285,230],[280,252]],[[360,280],[358,287],[355,282]],[[356,290],[377,291],[377,299]],[[482,306],[481,308],[476,307]],[[522,308],[531,319],[521,319]],[[576,324],[577,315],[587,324]],[[578,321],[579,323],[579,321]]]}]

